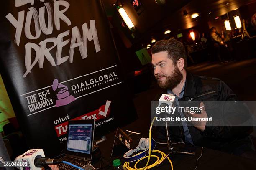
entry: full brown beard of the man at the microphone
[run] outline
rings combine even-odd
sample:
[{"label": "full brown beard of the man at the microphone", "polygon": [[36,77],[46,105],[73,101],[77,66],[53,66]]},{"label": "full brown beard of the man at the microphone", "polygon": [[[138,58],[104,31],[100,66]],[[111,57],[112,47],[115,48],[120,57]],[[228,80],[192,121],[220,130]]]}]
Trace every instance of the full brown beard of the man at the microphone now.
[{"label": "full brown beard of the man at the microphone", "polygon": [[[160,81],[158,77],[165,77],[166,80],[164,82]],[[174,89],[183,79],[183,75],[179,71],[178,67],[174,68],[174,71],[171,76],[166,76],[164,74],[160,74],[157,76],[157,83],[159,87],[163,89]]]}]

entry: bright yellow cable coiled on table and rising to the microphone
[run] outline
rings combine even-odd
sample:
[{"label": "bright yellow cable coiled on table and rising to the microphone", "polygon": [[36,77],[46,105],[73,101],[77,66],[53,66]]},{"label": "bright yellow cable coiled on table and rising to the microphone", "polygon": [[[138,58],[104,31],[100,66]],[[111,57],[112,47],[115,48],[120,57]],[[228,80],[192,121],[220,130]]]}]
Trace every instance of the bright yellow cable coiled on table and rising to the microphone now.
[{"label": "bright yellow cable coiled on table and rising to the microphone", "polygon": [[[160,150],[153,150],[152,153],[154,153],[154,152],[160,153],[160,154],[161,154],[161,159],[159,159],[159,157],[156,156],[156,155],[152,155],[152,156],[151,156],[151,130],[152,130],[152,126],[153,126],[153,123],[154,123],[155,119],[156,119],[156,117],[154,117],[154,119],[152,120],[151,125],[150,125],[150,128],[149,128],[149,148],[148,148],[148,156],[139,159],[139,160],[135,163],[134,168],[132,168],[132,167],[129,166],[129,162],[125,162],[125,163],[123,164],[123,167],[125,167],[127,170],[146,170],[146,169],[150,169],[150,168],[155,167],[156,165],[158,165],[158,164],[167,156],[164,152],[162,152],[162,151],[160,151]],[[138,153],[138,154],[140,154],[140,153]],[[136,155],[138,155],[138,154],[136,154]],[[157,160],[156,160],[155,163],[153,163],[153,164],[151,164],[151,165],[148,166],[150,157],[156,157]],[[146,158],[148,158],[148,161],[147,161],[145,167],[143,167],[143,168],[137,168],[136,165],[138,164],[138,162],[140,162],[141,160],[146,159]],[[172,161],[170,160],[169,157],[167,157],[167,159],[169,160],[169,162],[170,162],[170,164],[171,164],[171,167],[172,167],[172,170],[173,170]]]}]

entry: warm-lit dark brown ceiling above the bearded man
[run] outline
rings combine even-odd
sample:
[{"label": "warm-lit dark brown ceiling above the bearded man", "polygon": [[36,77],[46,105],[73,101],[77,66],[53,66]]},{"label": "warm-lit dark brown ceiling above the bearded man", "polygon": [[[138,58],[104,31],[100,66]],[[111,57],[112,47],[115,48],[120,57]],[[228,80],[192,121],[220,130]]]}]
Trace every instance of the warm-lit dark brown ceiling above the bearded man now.
[{"label": "warm-lit dark brown ceiling above the bearded man", "polygon": [[[108,16],[116,10],[117,0],[103,0]],[[242,5],[254,3],[256,0],[166,0],[164,5],[158,5],[155,0],[140,0],[144,11],[138,15],[130,4],[130,0],[118,0],[133,21],[141,38],[151,37],[156,33],[163,33],[165,29],[171,31],[185,30],[198,25],[199,22],[214,20]],[[184,10],[187,15],[184,15]],[[211,12],[211,13],[210,13]],[[192,13],[200,16],[191,19]],[[209,14],[210,13],[210,14]]]}]

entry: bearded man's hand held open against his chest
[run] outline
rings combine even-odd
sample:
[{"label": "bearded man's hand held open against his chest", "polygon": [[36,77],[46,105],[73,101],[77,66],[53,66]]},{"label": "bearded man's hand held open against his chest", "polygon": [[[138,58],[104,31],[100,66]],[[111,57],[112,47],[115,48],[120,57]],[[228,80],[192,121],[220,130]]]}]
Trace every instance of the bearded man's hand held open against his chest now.
[{"label": "bearded man's hand held open against his chest", "polygon": [[[186,117],[195,117],[195,118],[205,117],[205,118],[208,118],[207,113],[205,111],[205,105],[204,105],[203,102],[200,103],[200,107],[202,107],[201,114],[196,114],[196,113],[192,114],[190,112],[185,112],[184,115]],[[189,122],[191,122],[197,129],[199,129],[200,131],[203,132],[205,130],[205,125],[206,125],[207,121],[205,120],[205,121],[189,121]]]}]

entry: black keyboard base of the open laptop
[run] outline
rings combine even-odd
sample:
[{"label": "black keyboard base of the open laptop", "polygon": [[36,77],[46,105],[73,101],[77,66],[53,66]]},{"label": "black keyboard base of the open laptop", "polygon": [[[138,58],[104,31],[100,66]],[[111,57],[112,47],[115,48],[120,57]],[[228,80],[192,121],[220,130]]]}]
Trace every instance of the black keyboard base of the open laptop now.
[{"label": "black keyboard base of the open laptop", "polygon": [[[62,157],[60,160],[64,160],[64,161],[67,161],[69,163],[72,163],[74,165],[77,165],[79,167],[83,167],[85,165],[87,165],[89,162],[87,161],[78,161],[78,160],[73,160],[72,158],[70,157]],[[59,170],[77,170],[77,168],[75,167],[72,167],[71,165],[67,165],[65,163],[61,163],[61,164],[58,164],[58,167],[59,167]]]}]

